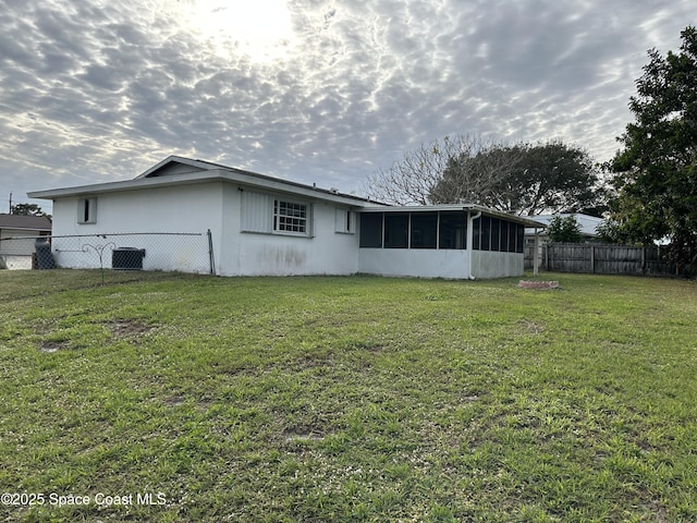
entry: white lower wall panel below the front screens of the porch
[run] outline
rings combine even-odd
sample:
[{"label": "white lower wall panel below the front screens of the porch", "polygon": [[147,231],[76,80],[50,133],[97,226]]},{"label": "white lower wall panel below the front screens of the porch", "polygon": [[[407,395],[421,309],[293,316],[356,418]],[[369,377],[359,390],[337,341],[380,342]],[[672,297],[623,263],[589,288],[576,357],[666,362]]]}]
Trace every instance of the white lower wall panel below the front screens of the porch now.
[{"label": "white lower wall panel below the front screens of the porch", "polygon": [[358,271],[418,278],[469,277],[469,251],[432,248],[362,248]]}]

